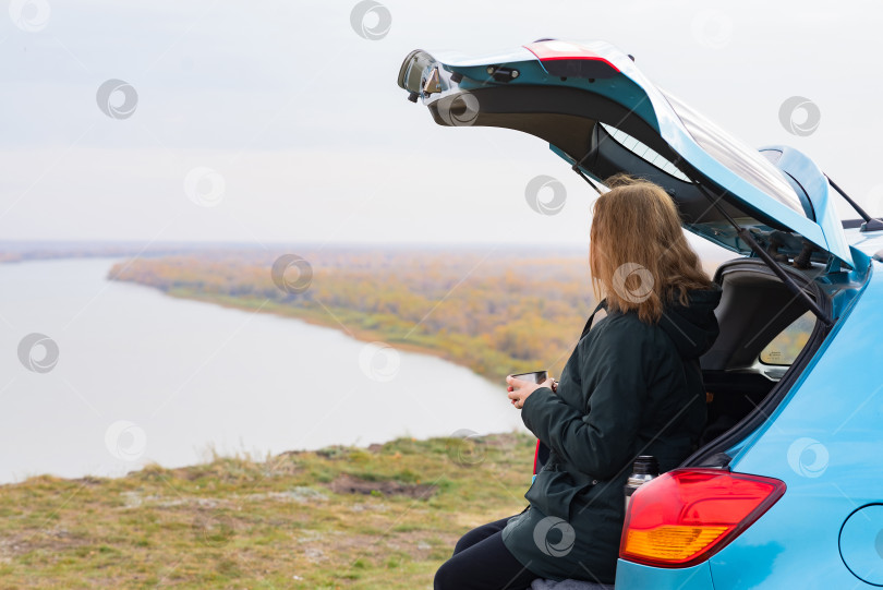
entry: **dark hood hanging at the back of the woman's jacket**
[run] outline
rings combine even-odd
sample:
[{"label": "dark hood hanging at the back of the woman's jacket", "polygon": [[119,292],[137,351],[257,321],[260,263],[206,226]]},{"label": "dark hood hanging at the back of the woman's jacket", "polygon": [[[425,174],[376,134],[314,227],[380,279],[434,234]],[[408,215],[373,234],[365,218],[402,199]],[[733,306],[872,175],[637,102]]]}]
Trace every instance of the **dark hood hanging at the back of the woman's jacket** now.
[{"label": "dark hood hanging at the back of the woman's jacket", "polygon": [[707,289],[689,291],[687,305],[677,300],[665,305],[660,327],[672,338],[682,358],[700,357],[714,344],[719,333],[714,309],[722,293],[721,287],[714,284]]}]

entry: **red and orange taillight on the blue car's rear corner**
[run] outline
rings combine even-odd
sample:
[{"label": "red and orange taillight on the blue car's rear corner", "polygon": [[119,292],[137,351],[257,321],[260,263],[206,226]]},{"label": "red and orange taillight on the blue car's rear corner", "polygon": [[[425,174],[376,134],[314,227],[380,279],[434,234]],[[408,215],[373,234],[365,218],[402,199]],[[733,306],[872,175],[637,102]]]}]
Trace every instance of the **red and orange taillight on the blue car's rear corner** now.
[{"label": "red and orange taillight on the blue car's rear corner", "polygon": [[785,482],[719,469],[676,469],[634,492],[619,556],[687,567],[721,551],[785,493]]}]

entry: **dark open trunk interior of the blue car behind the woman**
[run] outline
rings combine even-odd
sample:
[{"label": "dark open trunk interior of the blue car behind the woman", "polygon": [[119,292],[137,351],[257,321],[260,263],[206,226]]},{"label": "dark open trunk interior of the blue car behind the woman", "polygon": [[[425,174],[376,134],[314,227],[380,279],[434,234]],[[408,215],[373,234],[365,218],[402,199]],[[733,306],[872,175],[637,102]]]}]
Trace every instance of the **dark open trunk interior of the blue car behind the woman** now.
[{"label": "dark open trunk interior of the blue car behind the woman", "polygon": [[[799,270],[786,272],[830,312],[831,300],[818,282]],[[685,467],[729,465],[729,454],[775,411],[826,333],[803,300],[795,298],[758,260],[726,262],[714,280],[723,288],[715,310],[721,335],[700,358],[709,420],[700,448],[685,460]],[[789,353],[776,359],[776,348],[788,344]]]}]

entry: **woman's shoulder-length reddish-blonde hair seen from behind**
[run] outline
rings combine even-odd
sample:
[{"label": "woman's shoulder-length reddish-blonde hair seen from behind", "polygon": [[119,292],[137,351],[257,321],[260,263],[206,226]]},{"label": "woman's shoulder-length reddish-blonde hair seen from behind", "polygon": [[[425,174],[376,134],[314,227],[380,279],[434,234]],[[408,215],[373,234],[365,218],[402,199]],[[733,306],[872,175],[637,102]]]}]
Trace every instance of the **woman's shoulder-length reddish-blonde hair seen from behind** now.
[{"label": "woman's shoulder-length reddish-blonde hair seen from behind", "polygon": [[689,303],[688,291],[711,287],[680,227],[678,209],[661,186],[616,174],[593,207],[589,266],[596,298],[608,311],[637,311],[656,323],[665,303]]}]

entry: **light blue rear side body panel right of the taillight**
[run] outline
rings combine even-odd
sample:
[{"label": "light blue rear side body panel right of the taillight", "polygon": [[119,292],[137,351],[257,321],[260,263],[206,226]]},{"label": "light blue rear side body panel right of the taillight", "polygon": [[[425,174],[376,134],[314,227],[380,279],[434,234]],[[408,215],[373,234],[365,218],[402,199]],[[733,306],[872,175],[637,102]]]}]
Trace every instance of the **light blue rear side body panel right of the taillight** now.
[{"label": "light blue rear side body panel right of the taillight", "polygon": [[734,471],[781,479],[788,491],[711,558],[717,590],[864,586],[844,564],[838,542],[857,508],[883,502],[883,378],[844,370],[867,368],[856,365],[859,350],[869,361],[883,358],[883,264],[873,262],[870,272],[876,277],[849,299],[801,380],[730,462]]}]

